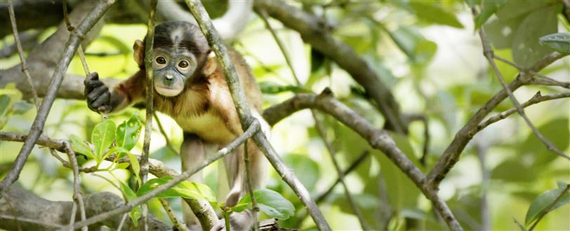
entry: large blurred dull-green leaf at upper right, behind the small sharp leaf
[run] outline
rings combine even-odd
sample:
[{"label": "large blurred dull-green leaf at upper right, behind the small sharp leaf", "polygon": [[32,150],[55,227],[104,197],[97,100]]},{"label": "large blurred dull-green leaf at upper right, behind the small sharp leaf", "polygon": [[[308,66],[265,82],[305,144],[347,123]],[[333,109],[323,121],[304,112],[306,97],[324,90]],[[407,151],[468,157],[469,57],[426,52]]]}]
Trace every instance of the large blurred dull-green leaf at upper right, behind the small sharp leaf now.
[{"label": "large blurred dull-green leaf at upper right, behind the small sharp leaf", "polygon": [[548,46],[541,45],[538,39],[557,32],[556,14],[561,7],[561,4],[557,4],[541,8],[524,18],[512,39],[512,57],[517,64],[532,66],[552,52]]}]

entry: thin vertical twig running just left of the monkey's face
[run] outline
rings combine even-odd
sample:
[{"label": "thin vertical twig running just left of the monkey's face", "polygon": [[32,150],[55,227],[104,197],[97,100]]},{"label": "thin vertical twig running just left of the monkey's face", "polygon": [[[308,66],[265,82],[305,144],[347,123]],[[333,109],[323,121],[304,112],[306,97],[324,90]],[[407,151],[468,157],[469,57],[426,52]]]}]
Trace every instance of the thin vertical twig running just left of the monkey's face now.
[{"label": "thin vertical twig running just left of the monkey's face", "polygon": [[[148,19],[148,30],[145,38],[145,71],[147,74],[147,98],[146,98],[146,121],[145,121],[145,141],[143,143],[143,155],[140,155],[140,181],[147,182],[148,156],[150,154],[150,134],[152,133],[152,114],[154,112],[154,77],[152,72],[152,48],[154,45],[154,15],[157,13],[157,0],[150,1],[150,15]],[[140,186],[139,186],[140,187]],[[142,206],[143,221],[145,231],[148,230],[148,208],[146,204]]]}]

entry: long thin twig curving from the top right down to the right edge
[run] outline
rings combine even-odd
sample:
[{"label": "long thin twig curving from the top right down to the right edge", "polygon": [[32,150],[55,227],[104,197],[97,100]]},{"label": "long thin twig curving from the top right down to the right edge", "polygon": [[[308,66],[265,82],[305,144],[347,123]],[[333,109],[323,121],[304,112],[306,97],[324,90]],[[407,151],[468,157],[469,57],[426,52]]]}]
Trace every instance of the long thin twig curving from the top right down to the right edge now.
[{"label": "long thin twig curving from the top right down to the right edge", "polygon": [[[473,11],[473,15],[477,15],[477,9],[476,8],[472,8],[472,11]],[[493,60],[493,56],[494,56],[493,50],[491,49],[491,45],[489,45],[489,41],[487,41],[485,30],[483,28],[479,29],[479,37],[481,37],[481,41],[483,43],[483,54],[485,55],[487,61],[489,61],[489,64],[491,64],[493,71],[495,71],[497,78],[501,82],[501,85],[503,85],[503,89],[507,92],[510,101],[515,106],[515,109],[517,109],[517,112],[519,113],[519,115],[524,119],[524,121],[526,122],[526,125],[529,125],[532,132],[536,135],[536,137],[538,137],[538,139],[540,139],[543,142],[543,144],[546,146],[546,148],[548,148],[549,151],[552,151],[552,152],[556,153],[557,155],[570,160],[570,156],[562,153],[562,151],[560,151],[554,144],[552,144],[552,142],[550,142],[550,140],[546,139],[546,137],[544,137],[543,134],[541,134],[541,132],[538,131],[538,129],[533,125],[533,123],[531,122],[529,117],[526,116],[526,113],[524,113],[524,109],[520,105],[517,98],[515,98],[515,96],[512,94],[512,91],[507,86],[507,83],[505,83],[505,78],[503,78],[503,74],[501,74],[501,71],[499,71],[495,61]]]}]

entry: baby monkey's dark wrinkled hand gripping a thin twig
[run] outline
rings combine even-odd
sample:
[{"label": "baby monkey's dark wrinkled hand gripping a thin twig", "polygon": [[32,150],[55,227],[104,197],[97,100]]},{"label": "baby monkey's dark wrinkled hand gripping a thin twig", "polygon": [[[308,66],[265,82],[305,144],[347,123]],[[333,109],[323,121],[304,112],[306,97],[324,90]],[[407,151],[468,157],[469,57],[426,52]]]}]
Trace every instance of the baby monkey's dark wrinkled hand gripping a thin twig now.
[{"label": "baby monkey's dark wrinkled hand gripping a thin twig", "polygon": [[111,106],[111,92],[109,87],[99,80],[97,72],[90,73],[84,80],[85,97],[87,99],[87,106],[91,111],[95,112],[110,112]]}]

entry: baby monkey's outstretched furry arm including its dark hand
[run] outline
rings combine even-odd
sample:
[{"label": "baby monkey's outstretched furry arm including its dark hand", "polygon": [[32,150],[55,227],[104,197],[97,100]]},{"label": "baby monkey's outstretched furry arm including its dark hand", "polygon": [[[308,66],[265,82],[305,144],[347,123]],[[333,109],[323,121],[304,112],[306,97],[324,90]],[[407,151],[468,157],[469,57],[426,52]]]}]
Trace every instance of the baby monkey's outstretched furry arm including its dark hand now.
[{"label": "baby monkey's outstretched furry arm including its dark hand", "polygon": [[84,85],[87,106],[91,111],[117,112],[143,99],[146,90],[145,72],[138,71],[131,78],[115,86],[112,92],[99,80],[97,72],[91,73],[84,81]]}]

